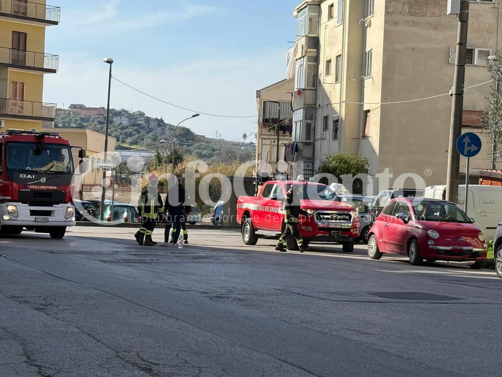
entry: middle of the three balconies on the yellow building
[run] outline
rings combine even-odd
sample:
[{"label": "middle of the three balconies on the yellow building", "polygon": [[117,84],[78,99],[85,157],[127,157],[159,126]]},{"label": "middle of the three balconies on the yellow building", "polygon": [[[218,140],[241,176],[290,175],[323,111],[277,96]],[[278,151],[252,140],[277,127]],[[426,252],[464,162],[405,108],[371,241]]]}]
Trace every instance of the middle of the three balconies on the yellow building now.
[{"label": "middle of the three balconies on the yellow building", "polygon": [[56,73],[58,64],[58,55],[0,47],[0,66]]}]

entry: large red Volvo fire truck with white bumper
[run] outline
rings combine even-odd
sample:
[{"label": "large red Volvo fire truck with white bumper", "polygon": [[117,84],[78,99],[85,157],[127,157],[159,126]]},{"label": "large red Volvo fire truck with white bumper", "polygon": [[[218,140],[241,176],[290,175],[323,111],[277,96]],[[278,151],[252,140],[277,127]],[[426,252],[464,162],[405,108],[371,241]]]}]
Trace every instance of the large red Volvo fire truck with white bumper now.
[{"label": "large red Volvo fire truck with white bumper", "polygon": [[0,133],[0,234],[29,229],[63,238],[75,225],[72,148],[79,149],[83,173],[85,150],[71,147],[59,133]]}]

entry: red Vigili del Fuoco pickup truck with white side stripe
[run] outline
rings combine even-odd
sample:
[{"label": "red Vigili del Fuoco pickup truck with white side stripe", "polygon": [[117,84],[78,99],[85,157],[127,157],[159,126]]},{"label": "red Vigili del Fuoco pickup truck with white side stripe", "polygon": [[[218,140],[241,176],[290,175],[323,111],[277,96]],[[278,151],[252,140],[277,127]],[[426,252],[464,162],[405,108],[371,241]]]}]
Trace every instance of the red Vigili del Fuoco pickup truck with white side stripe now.
[{"label": "red Vigili del Fuoco pickup truck with white side stripe", "polygon": [[[359,215],[354,207],[339,201],[325,184],[292,180],[266,182],[255,197],[239,197],[237,222],[241,226],[242,240],[256,245],[258,238],[279,239],[285,229],[284,198],[293,183],[303,186],[302,209],[310,216],[300,215],[299,229],[304,244],[310,242],[341,243],[344,252],[354,249],[359,237]],[[288,250],[298,250],[294,237],[286,240]]]}]

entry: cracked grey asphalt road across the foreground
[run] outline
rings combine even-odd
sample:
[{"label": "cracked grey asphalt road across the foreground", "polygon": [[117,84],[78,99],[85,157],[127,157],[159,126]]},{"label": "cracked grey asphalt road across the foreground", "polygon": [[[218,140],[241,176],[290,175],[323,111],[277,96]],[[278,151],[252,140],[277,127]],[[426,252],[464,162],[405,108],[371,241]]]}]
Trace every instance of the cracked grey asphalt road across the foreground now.
[{"label": "cracked grey asphalt road across the foreground", "polygon": [[362,245],[280,253],[234,231],[190,231],[182,250],[133,234],[0,239],[0,376],[500,375],[493,271]]}]

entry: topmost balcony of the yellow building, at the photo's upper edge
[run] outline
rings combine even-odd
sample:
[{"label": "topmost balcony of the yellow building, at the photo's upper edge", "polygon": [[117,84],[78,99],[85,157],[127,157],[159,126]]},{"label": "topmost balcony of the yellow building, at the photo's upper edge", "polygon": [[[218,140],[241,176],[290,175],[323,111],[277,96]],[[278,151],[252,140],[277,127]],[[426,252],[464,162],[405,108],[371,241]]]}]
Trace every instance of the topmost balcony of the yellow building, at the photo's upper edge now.
[{"label": "topmost balcony of the yellow building, at the photo's upper edge", "polygon": [[23,20],[34,25],[58,25],[61,8],[20,0],[0,0],[0,19],[6,18]]}]

